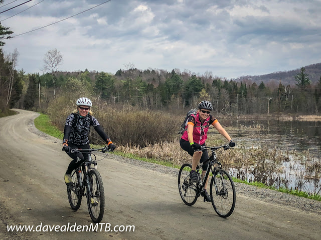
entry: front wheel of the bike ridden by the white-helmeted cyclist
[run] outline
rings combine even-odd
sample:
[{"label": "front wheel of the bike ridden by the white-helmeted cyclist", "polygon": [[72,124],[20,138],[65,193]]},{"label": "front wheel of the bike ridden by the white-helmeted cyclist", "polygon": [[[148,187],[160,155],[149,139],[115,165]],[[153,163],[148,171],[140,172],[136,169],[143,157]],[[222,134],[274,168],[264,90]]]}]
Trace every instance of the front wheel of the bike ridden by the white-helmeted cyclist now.
[{"label": "front wheel of the bike ridden by the white-helmeted cyclist", "polygon": [[[87,204],[89,215],[93,222],[98,223],[102,220],[105,211],[105,192],[101,175],[97,169],[91,169],[88,173],[90,191],[87,189]],[[88,186],[87,186],[88,187]],[[92,192],[92,196],[88,194]],[[90,197],[97,201],[97,205],[91,203]]]}]

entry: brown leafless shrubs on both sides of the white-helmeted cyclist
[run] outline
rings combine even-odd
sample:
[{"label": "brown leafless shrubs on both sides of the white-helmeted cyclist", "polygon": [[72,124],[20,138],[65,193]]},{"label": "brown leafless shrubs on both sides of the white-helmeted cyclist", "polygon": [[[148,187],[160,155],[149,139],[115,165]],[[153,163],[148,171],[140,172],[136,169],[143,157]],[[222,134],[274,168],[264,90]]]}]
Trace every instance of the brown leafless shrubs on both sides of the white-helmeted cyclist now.
[{"label": "brown leafless shrubs on both sides of the white-helmeted cyclist", "polygon": [[[76,108],[77,96],[72,93],[63,94],[50,103],[48,112],[51,121],[64,129],[66,117]],[[79,96],[79,94],[78,94]],[[162,111],[139,109],[131,105],[108,105],[92,97],[93,116],[104,128],[112,141],[117,145],[144,147],[149,144],[171,141],[177,137],[177,130],[182,119]],[[90,142],[104,144],[104,141],[92,129]]]}]

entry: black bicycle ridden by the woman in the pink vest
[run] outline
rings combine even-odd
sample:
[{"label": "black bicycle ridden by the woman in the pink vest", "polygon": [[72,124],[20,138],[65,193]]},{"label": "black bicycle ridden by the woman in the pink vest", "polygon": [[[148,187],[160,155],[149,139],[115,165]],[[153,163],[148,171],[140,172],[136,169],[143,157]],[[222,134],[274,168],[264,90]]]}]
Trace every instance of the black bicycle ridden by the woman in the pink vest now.
[{"label": "black bicycle ridden by the woman in the pink vest", "polygon": [[[200,196],[201,191],[204,189],[207,177],[212,173],[210,183],[212,205],[219,216],[228,217],[234,210],[236,193],[232,177],[222,168],[221,162],[216,159],[217,156],[215,151],[221,147],[225,150],[230,148],[228,144],[222,146],[202,146],[201,150],[209,150],[211,155],[206,161],[199,163],[196,167],[199,183],[192,182],[190,179],[192,164],[185,163],[180,169],[178,184],[182,200],[185,204],[192,206]],[[209,165],[205,176],[202,177],[202,166],[207,162]]]}]

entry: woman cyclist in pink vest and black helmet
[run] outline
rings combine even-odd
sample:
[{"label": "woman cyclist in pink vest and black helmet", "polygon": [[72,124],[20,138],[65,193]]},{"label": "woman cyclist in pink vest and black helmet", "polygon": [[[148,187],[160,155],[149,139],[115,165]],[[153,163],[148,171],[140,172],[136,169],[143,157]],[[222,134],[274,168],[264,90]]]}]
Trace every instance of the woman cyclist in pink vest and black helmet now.
[{"label": "woman cyclist in pink vest and black helmet", "polygon": [[[205,146],[207,139],[207,131],[210,125],[213,125],[230,143],[231,147],[235,146],[235,142],[232,140],[230,135],[221,126],[218,120],[211,115],[213,105],[209,101],[201,101],[199,103],[199,109],[196,115],[191,115],[187,120],[186,131],[183,133],[180,140],[181,147],[186,150],[192,156],[192,170],[190,173],[191,180],[198,183],[199,179],[196,174],[196,166],[199,162],[203,162],[209,158],[207,150],[201,150],[201,146]],[[202,176],[204,177],[208,164],[203,165]],[[204,187],[204,191],[201,195],[204,196],[206,201],[211,201],[211,197],[206,191],[207,181]]]}]

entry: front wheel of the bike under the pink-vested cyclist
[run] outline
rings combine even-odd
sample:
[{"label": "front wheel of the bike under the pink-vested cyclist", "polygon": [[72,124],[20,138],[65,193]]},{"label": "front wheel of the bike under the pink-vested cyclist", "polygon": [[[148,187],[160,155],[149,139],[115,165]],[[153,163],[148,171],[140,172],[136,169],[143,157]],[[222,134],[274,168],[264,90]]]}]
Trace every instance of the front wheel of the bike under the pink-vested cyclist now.
[{"label": "front wheel of the bike under the pink-vested cyclist", "polygon": [[212,176],[210,195],[214,210],[219,216],[228,217],[232,214],[235,207],[236,191],[232,177],[224,169],[216,170]]}]

